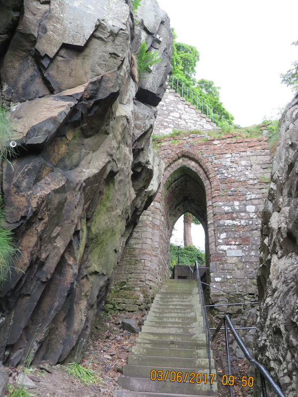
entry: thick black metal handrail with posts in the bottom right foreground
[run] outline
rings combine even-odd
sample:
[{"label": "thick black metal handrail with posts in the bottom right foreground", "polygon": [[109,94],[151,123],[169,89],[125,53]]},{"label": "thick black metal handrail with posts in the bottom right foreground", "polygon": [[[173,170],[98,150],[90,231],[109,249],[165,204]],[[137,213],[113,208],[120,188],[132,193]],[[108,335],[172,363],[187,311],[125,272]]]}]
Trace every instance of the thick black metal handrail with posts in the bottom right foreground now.
[{"label": "thick black metal handrail with posts in the bottom right foreground", "polygon": [[[249,353],[249,351],[245,347],[244,343],[240,339],[237,331],[235,330],[234,326],[232,325],[232,323],[230,321],[230,318],[228,317],[227,314],[225,314],[224,317],[222,318],[222,320],[220,321],[220,324],[218,325],[216,331],[214,332],[214,334],[212,336],[212,340],[214,340],[216,334],[218,333],[218,331],[220,331],[223,323],[224,323],[224,331],[225,331],[226,356],[227,356],[227,360],[228,360],[228,375],[229,376],[231,375],[231,368],[230,368],[230,361],[229,361],[227,325],[228,325],[230,331],[232,332],[236,342],[238,343],[240,349],[243,351],[243,353],[244,353],[245,357],[247,358],[247,360],[250,362],[250,364],[252,364],[255,368],[257,368],[259,370],[259,373],[260,373],[260,376],[261,376],[261,386],[262,386],[262,395],[263,395],[263,397],[267,397],[267,390],[266,390],[265,380],[269,383],[269,385],[271,386],[272,390],[276,393],[276,395],[278,397],[286,397],[284,395],[284,393],[282,392],[282,390],[279,388],[279,386],[276,384],[276,382],[273,380],[271,375],[265,369],[265,367],[263,367],[262,364],[260,364],[257,360],[255,360],[251,356],[251,354]],[[233,391],[232,391],[232,387],[231,386],[230,386],[230,396],[233,397]]]}]

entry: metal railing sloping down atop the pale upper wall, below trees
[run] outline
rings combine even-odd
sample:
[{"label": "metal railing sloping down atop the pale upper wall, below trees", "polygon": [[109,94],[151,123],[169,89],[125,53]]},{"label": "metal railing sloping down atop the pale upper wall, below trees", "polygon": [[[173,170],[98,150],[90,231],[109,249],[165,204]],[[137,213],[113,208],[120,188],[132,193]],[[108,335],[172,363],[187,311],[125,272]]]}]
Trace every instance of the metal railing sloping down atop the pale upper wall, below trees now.
[{"label": "metal railing sloping down atop the pale upper wall, below trees", "polygon": [[172,75],[170,77],[169,85],[177,94],[180,94],[180,96],[185,98],[187,102],[190,102],[192,106],[195,106],[197,110],[206,115],[207,119],[210,119],[212,123],[217,124],[218,127],[224,128],[225,126],[232,126],[232,123],[229,120],[210,106],[204,99],[200,98],[193,90],[185,86],[177,77]]}]

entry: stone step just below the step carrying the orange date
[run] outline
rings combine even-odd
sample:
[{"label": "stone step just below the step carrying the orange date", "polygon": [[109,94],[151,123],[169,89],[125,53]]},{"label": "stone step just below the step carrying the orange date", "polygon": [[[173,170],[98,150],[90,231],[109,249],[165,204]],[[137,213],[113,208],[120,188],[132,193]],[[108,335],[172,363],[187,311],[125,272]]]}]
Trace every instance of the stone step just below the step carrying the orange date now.
[{"label": "stone step just below the step carrying the orange date", "polygon": [[[122,376],[118,378],[118,384],[124,389],[136,392],[183,393],[186,395],[201,394],[202,396],[210,396],[210,384],[207,383],[205,385],[203,382],[200,384],[171,381],[158,382],[151,381],[151,379]],[[215,392],[217,391],[216,383],[213,384],[213,389]]]}]

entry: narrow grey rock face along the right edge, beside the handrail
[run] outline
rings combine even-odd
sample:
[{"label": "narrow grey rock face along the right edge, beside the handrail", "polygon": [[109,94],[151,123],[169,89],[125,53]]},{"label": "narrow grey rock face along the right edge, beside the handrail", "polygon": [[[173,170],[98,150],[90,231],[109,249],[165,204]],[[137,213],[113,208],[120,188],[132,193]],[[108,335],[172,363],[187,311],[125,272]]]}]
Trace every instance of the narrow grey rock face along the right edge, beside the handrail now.
[{"label": "narrow grey rock face along the right edge, beside the handrail", "polygon": [[280,122],[263,211],[256,356],[288,397],[298,385],[298,94]]}]

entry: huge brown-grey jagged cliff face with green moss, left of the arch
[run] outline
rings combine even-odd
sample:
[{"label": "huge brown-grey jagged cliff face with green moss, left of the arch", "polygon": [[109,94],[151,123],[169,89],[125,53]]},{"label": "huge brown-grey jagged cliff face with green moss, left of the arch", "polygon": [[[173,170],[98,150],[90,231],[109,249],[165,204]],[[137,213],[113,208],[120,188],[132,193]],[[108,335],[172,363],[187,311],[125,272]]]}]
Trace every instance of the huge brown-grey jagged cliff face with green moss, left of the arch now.
[{"label": "huge brown-grey jagged cliff face with green moss, left of the arch", "polygon": [[[2,195],[19,252],[0,291],[0,358],[54,364],[84,345],[160,183],[151,105],[172,34],[153,0],[136,29],[129,0],[11,0],[2,11],[1,96],[19,152],[3,164]],[[132,49],[160,32],[161,62],[138,87]]]}]

